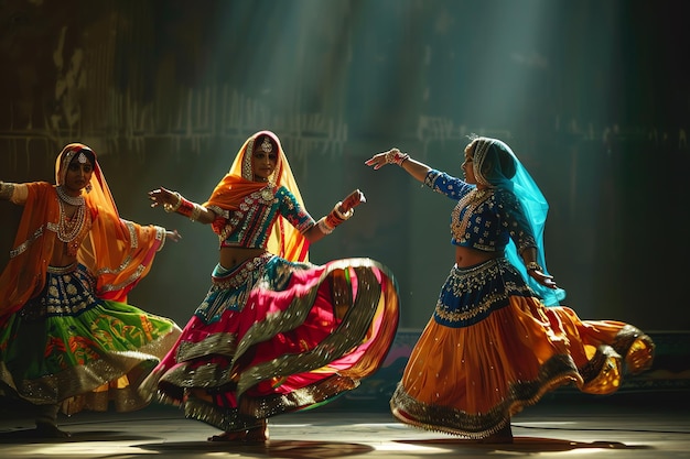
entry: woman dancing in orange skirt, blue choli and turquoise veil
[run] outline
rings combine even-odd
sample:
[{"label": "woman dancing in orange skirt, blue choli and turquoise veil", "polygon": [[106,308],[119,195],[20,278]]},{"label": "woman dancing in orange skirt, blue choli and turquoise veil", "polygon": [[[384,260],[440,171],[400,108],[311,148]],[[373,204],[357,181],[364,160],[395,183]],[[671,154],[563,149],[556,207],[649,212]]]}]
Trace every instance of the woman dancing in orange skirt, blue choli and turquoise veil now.
[{"label": "woman dancing in orange skirt, blue choli and turquoise veil", "polygon": [[472,135],[464,179],[391,149],[397,164],[454,201],[455,264],[390,401],[402,423],[486,442],[510,442],[510,418],[574,383],[610,394],[651,365],[654,342],[632,325],[581,320],[546,269],[548,204],[503,141]]}]

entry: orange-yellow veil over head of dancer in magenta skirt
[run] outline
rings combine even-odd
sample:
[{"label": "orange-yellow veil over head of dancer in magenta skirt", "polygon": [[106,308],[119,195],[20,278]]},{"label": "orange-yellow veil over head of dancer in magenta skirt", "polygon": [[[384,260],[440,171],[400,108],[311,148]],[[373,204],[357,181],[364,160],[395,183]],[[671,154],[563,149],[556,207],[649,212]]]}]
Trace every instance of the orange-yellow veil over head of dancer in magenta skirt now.
[{"label": "orange-yellow veil over head of dancer in magenta skirt", "polygon": [[[254,181],[251,170],[255,142],[265,135],[270,136],[278,145],[276,170],[269,177],[268,186],[272,186],[273,192],[284,186],[294,195],[300,206],[304,207],[302,195],[292,175],[292,170],[285,157],[280,139],[271,131],[259,131],[245,141],[237,152],[229,172],[216,185],[208,200],[204,203],[204,207],[217,206],[224,210],[234,211],[239,209],[239,205],[246,196],[267,187],[265,182]],[[214,230],[218,232],[216,226],[214,226]],[[268,250],[273,254],[289,261],[309,261],[309,241],[292,225],[287,223],[282,217],[279,217],[271,228],[268,241]]]}]

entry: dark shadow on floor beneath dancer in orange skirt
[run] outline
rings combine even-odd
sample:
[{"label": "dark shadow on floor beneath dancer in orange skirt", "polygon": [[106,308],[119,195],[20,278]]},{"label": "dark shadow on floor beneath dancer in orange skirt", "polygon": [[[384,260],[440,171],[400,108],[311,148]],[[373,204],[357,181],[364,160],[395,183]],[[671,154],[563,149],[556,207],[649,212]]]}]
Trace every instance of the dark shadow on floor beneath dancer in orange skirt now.
[{"label": "dark shadow on floor beneath dancer in orange skirt", "polygon": [[428,446],[428,447],[443,447],[449,449],[455,449],[457,451],[464,449],[484,450],[484,451],[507,451],[507,452],[524,452],[524,453],[538,453],[538,452],[565,452],[583,449],[606,449],[606,450],[634,450],[634,449],[651,449],[649,446],[644,445],[625,445],[619,441],[574,441],[562,440],[557,438],[541,438],[541,437],[515,437],[513,442],[509,444],[487,444],[478,440],[465,440],[457,438],[439,438],[439,439],[420,439],[420,440],[393,440],[395,442]]}]

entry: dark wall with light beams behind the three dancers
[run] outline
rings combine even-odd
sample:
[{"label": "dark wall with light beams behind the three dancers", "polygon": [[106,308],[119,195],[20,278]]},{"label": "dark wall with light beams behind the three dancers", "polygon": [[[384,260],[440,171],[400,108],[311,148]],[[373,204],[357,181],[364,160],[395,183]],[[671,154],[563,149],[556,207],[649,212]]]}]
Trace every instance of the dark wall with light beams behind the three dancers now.
[{"label": "dark wall with light beams behind the three dancers", "polygon": [[[0,1],[0,179],[54,181],[90,145],[122,217],[176,228],[129,302],[184,325],[216,262],[209,227],[151,209],[203,203],[244,140],[282,140],[315,217],[368,203],[311,260],[396,274],[401,326],[430,317],[453,263],[453,203],[395,167],[399,146],[461,174],[471,132],[500,138],[550,203],[548,270],[581,317],[688,330],[690,44],[682,1]],[[21,208],[0,203],[0,265]]]}]

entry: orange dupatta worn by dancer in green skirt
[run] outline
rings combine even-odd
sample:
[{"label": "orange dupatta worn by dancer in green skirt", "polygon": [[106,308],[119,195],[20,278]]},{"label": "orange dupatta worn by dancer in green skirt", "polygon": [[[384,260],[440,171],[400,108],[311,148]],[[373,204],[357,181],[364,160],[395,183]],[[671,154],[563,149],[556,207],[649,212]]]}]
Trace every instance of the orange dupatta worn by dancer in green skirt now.
[{"label": "orange dupatta worn by dancer in green skirt", "polygon": [[[164,242],[165,229],[122,220],[96,154],[82,143],[66,145],[55,161],[55,181],[62,185],[69,162],[80,151],[94,155],[94,172],[82,192],[91,229],[82,242],[77,261],[96,277],[96,295],[126,302],[129,291],[148,274]],[[53,229],[61,210],[55,187],[45,182],[26,184],[29,196],[14,237],[10,261],[0,275],[0,316],[20,309],[45,286],[47,264],[56,243]]]}]

